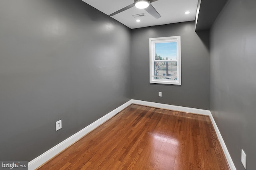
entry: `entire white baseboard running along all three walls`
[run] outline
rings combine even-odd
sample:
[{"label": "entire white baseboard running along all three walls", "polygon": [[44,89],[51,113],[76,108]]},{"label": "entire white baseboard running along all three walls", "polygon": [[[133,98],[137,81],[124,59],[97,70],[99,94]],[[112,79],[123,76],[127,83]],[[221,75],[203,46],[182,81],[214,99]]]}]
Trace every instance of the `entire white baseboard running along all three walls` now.
[{"label": "entire white baseboard running along all three walls", "polygon": [[122,111],[122,109],[126,108],[130,104],[139,104],[139,105],[144,105],[144,106],[158,107],[158,108],[162,108],[162,109],[170,109],[170,110],[175,110],[175,111],[196,113],[196,114],[200,114],[200,115],[209,115],[210,119],[212,121],[212,124],[214,126],[214,129],[216,131],[216,134],[218,136],[218,139],[220,141],[220,144],[222,146],[222,149],[224,151],[224,154],[226,156],[226,159],[228,160],[228,164],[229,164],[231,170],[236,170],[234,163],[233,163],[233,161],[230,157],[230,154],[228,152],[228,149],[224,143],[224,140],[222,139],[220,131],[219,131],[219,129],[214,121],[214,118],[212,117],[212,114],[209,110],[196,109],[196,108],[190,108],[190,107],[182,107],[182,106],[174,106],[174,105],[168,105],[168,104],[160,104],[160,103],[154,103],[154,102],[146,102],[146,101],[142,101],[142,100],[133,100],[133,99],[129,100],[122,106],[114,109],[110,113],[104,115],[103,117],[96,120],[92,124],[88,125],[81,131],[77,132],[76,134],[72,135],[68,139],[66,139],[66,140],[62,141],[61,143],[59,143],[58,145],[54,146],[52,149],[44,152],[43,154],[41,154],[34,160],[28,162],[28,170],[34,170],[34,169],[38,168],[39,166],[41,166],[42,164],[44,164],[45,162],[50,160],[52,157],[54,157],[55,155],[60,153],[62,150],[66,149],[67,147],[72,145],[74,142],[79,140],[81,137],[83,137],[90,131],[94,130],[96,127],[100,126],[102,123],[104,123],[105,121],[107,121],[108,119],[110,119],[111,117],[116,115],[118,112]]}]

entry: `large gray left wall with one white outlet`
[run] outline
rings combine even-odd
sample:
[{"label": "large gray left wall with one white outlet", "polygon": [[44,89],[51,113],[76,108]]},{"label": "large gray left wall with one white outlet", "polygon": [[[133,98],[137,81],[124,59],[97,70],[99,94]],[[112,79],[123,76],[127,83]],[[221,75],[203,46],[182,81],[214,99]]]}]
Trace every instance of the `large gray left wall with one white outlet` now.
[{"label": "large gray left wall with one white outlet", "polygon": [[0,1],[0,160],[30,161],[130,98],[130,29],[81,0]]}]

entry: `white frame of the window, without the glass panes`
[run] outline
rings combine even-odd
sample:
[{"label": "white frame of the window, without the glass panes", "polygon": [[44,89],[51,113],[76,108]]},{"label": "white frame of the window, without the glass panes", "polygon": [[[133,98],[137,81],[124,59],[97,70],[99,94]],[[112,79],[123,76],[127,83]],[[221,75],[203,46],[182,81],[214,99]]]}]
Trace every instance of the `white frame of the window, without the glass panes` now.
[{"label": "white frame of the window, without the glass panes", "polygon": [[[155,59],[155,43],[169,43],[169,42],[177,42],[177,59],[174,60],[156,60]],[[149,82],[150,83],[158,83],[158,84],[174,84],[181,85],[181,49],[180,49],[180,36],[172,36],[172,37],[158,37],[158,38],[150,38],[149,39]],[[155,61],[176,61],[177,62],[177,80],[168,80],[168,79],[155,79]],[[159,76],[158,76],[159,77]]]}]

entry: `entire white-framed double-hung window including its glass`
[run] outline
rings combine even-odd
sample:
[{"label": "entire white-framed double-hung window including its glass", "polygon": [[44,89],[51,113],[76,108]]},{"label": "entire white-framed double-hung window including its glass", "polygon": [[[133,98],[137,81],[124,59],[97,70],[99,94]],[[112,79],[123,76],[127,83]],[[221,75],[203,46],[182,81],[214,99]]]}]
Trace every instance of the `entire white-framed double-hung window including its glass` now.
[{"label": "entire white-framed double-hung window including its glass", "polygon": [[150,83],[181,85],[180,36],[149,39]]}]

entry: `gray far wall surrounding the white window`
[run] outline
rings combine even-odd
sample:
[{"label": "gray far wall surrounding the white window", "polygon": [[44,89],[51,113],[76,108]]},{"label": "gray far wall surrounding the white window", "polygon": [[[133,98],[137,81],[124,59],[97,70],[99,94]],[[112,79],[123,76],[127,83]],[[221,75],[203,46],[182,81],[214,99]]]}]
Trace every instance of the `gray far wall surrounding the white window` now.
[{"label": "gray far wall surrounding the white window", "polygon": [[[149,38],[181,36],[182,85],[149,83]],[[132,98],[209,109],[209,33],[195,22],[132,29]],[[162,92],[162,98],[158,97]]]}]

